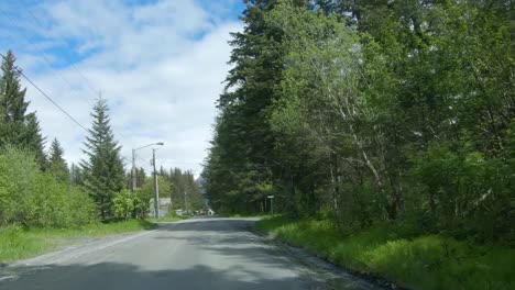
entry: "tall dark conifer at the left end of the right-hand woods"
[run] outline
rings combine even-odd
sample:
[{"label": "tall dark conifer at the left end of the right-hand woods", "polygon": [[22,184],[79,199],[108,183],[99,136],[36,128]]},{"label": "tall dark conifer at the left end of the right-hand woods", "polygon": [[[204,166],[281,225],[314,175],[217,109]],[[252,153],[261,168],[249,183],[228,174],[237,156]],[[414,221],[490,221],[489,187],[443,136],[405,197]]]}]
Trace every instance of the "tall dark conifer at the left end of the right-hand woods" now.
[{"label": "tall dark conifer at the left end of the right-hand woods", "polygon": [[[269,118],[284,69],[283,33],[265,21],[277,2],[245,1],[245,27],[231,34],[234,68],[218,100],[220,115],[205,175],[211,202],[224,204],[222,211],[256,211],[265,196],[255,185],[271,181],[271,171],[281,170],[273,161],[275,135]],[[294,2],[304,7],[308,1]]]}]

